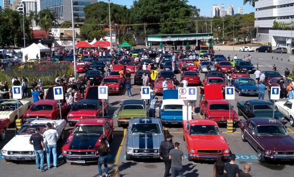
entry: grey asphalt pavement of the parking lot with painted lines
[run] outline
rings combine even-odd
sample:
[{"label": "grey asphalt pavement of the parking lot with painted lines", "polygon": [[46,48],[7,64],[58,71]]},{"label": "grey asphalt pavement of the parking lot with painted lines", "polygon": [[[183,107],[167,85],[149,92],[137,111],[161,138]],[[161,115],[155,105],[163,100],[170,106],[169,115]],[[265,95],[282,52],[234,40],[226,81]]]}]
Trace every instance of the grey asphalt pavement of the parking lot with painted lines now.
[{"label": "grey asphalt pavement of the parking lot with painted lines", "polygon": [[[272,70],[272,59],[271,54],[256,53],[256,52],[233,52],[233,51],[216,51],[216,54],[224,54],[226,57],[228,54],[233,57],[238,54],[238,58],[243,55],[251,54],[253,57],[270,57],[266,60],[267,65],[259,65],[259,69],[262,71]],[[286,54],[285,54],[286,55]],[[254,64],[254,63],[253,63]],[[256,64],[254,64],[256,66]],[[290,69],[290,68],[289,68]],[[292,69],[292,68],[291,68]],[[158,69],[159,71],[159,69]],[[282,75],[284,70],[278,68]],[[133,74],[132,74],[133,76]],[[254,78],[254,75],[250,75]],[[180,80],[180,75],[177,74],[178,80]],[[200,80],[204,79],[204,74],[200,73]],[[127,97],[125,90],[121,91],[120,94],[109,96],[109,111],[108,114],[116,115],[119,109],[119,104],[125,99],[140,99],[140,87],[132,86],[132,97]],[[162,99],[162,96],[157,96]],[[267,91],[264,98],[268,98]],[[236,103],[240,101],[246,101],[249,99],[257,99],[255,96],[238,96],[235,95],[235,100],[231,100],[231,104],[234,106],[234,110],[237,111]],[[197,105],[199,102],[197,101]],[[156,112],[158,116],[158,110]],[[204,119],[200,114],[193,115],[193,119]],[[239,119],[244,119],[243,116],[239,116]],[[125,160],[126,151],[126,140],[127,133],[126,129],[117,127],[116,120],[114,121],[114,141],[110,143],[110,161],[108,164],[109,171],[114,170],[118,167],[122,176],[135,177],[135,176],[163,176],[164,174],[164,163],[160,159],[135,159],[132,161]],[[286,124],[289,130],[290,136],[294,137],[294,128],[290,126],[289,123]],[[293,172],[293,162],[264,162],[261,163],[257,160],[256,151],[248,144],[248,142],[243,142],[241,140],[241,131],[238,126],[235,128],[234,133],[226,133],[226,125],[219,125],[223,132],[223,136],[227,141],[230,151],[236,155],[236,164],[241,170],[244,170],[244,165],[251,165],[250,174],[252,176],[267,177],[267,176],[289,176]],[[67,125],[66,127],[66,138],[69,136],[69,130],[72,127]],[[197,176],[212,176],[213,174],[213,163],[207,161],[195,161],[190,162],[187,160],[187,147],[186,142],[183,140],[183,130],[181,125],[176,126],[166,126],[165,133],[171,133],[173,137],[173,142],[181,142],[180,149],[184,152],[185,160],[182,162],[184,167],[184,176],[186,177],[197,177]],[[7,131],[7,137],[4,141],[0,142],[0,149],[15,135],[15,128],[9,128]],[[65,140],[64,140],[65,142]],[[64,144],[61,142],[57,145],[58,152],[60,154],[61,147]],[[104,169],[102,167],[102,169]],[[99,176],[97,163],[90,164],[76,164],[76,163],[65,163],[63,158],[59,158],[58,168],[52,168],[41,172],[36,170],[36,165],[34,161],[13,161],[5,162],[3,158],[0,157],[0,171],[1,176],[89,176],[95,177]],[[103,170],[104,171],[104,170]],[[111,174],[111,173],[110,173]]]}]

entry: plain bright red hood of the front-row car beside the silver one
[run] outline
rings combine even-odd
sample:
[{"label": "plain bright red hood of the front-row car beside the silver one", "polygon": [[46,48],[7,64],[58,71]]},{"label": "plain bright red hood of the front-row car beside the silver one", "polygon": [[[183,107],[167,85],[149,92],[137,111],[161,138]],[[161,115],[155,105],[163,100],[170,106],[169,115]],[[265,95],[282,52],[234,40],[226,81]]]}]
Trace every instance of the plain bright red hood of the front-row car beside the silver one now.
[{"label": "plain bright red hood of the front-row car beside the silver one", "polygon": [[[194,147],[190,147],[190,149],[197,150],[223,150],[229,149],[226,140],[222,136],[214,136],[214,135],[189,135],[188,141],[192,143],[190,145],[194,145]],[[201,143],[199,143],[201,142]]]}]

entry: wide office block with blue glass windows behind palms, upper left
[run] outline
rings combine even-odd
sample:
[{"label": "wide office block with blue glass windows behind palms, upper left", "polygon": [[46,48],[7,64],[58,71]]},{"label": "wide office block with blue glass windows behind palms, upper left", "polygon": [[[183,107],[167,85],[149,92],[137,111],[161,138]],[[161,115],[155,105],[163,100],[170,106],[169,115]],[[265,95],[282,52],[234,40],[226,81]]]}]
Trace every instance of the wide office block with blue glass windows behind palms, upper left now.
[{"label": "wide office block with blue glass windows behind palms, upper left", "polygon": [[[71,0],[39,0],[40,10],[50,9],[59,23],[72,20]],[[73,15],[86,19],[84,7],[96,3],[97,0],[73,0]],[[37,5],[38,6],[38,5]],[[38,9],[38,7],[37,7]]]}]

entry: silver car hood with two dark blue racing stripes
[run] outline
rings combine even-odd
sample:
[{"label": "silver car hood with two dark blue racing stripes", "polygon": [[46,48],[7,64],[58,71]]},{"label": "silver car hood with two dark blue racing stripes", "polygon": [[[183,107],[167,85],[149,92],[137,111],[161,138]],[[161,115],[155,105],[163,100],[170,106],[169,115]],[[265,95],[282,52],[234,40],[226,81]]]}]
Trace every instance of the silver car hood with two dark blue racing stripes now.
[{"label": "silver car hood with two dark blue racing stripes", "polygon": [[129,134],[127,148],[133,149],[159,149],[163,134]]}]

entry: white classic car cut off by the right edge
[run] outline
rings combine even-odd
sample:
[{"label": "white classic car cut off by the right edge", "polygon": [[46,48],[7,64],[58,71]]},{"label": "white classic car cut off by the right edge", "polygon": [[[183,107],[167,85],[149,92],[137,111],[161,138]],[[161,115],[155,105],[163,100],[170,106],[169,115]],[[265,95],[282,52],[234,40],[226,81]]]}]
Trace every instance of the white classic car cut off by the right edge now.
[{"label": "white classic car cut off by the right edge", "polygon": [[289,119],[290,125],[294,127],[294,99],[288,101],[275,102],[277,109]]}]

